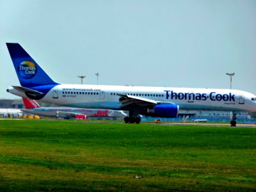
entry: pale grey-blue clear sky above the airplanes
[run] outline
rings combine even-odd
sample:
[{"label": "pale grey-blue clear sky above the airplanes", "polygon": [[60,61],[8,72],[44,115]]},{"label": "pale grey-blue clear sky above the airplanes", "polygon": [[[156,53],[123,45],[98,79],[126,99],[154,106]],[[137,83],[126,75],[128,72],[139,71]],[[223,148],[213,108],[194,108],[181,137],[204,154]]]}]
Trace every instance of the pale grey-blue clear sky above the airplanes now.
[{"label": "pale grey-blue clear sky above the airplanes", "polygon": [[0,0],[0,99],[20,85],[6,42],[58,83],[256,94],[256,1]]}]

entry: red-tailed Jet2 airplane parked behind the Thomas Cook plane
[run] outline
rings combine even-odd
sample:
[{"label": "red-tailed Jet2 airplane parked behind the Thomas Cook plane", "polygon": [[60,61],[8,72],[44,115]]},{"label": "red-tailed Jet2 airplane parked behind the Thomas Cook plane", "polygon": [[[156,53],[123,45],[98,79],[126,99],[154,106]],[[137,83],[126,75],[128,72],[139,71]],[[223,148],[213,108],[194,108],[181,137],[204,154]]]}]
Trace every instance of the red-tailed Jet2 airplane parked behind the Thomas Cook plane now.
[{"label": "red-tailed Jet2 airplane parked behind the Thomas Cook plane", "polygon": [[79,108],[42,108],[35,100],[22,97],[26,109],[20,109],[24,113],[29,113],[47,117],[76,118],[84,115],[86,117],[100,118],[124,118],[127,116],[124,111],[109,109],[79,109]]}]

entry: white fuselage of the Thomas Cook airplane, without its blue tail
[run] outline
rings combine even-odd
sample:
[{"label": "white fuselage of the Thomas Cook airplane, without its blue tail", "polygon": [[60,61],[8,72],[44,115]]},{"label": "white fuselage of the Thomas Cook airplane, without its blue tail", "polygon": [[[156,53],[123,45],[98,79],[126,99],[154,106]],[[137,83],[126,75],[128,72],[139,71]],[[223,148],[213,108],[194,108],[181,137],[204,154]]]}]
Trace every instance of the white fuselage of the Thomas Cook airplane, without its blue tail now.
[{"label": "white fuselage of the Thomas Cook airplane, without its blue tail", "polygon": [[[9,92],[26,97],[15,89]],[[120,93],[170,102],[181,110],[256,112],[255,95],[224,89],[58,84],[40,100],[74,108],[120,109]]]}]

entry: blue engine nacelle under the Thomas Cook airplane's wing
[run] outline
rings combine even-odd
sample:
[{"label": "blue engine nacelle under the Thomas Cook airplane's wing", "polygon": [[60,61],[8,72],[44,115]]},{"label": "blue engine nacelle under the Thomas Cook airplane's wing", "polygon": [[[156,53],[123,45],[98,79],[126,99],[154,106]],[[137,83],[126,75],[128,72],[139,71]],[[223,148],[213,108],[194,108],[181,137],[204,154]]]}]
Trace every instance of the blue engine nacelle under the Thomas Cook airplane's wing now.
[{"label": "blue engine nacelle under the Thomas Cook airplane's wing", "polygon": [[150,116],[174,118],[179,114],[179,106],[176,104],[158,104],[153,109],[148,109],[147,113]]}]

